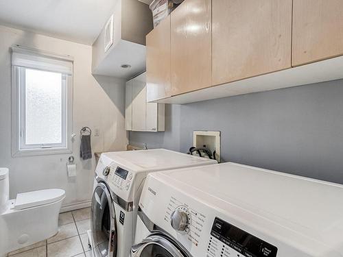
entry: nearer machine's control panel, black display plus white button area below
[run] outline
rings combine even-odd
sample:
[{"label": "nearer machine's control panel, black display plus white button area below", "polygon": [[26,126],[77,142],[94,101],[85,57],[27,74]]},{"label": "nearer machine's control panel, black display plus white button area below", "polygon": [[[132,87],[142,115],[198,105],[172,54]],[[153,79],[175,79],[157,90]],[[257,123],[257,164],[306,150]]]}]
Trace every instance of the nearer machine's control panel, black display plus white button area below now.
[{"label": "nearer machine's control panel, black display plus white button area below", "polygon": [[206,257],[276,257],[277,247],[215,218]]}]

